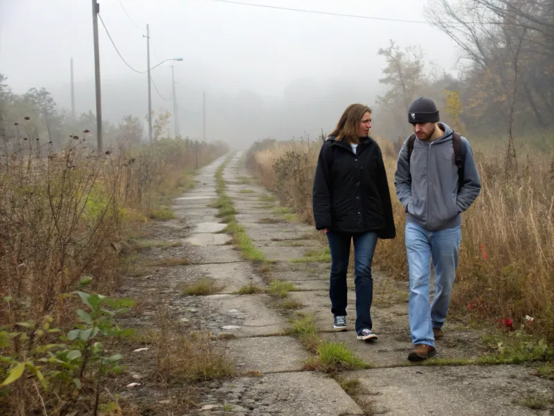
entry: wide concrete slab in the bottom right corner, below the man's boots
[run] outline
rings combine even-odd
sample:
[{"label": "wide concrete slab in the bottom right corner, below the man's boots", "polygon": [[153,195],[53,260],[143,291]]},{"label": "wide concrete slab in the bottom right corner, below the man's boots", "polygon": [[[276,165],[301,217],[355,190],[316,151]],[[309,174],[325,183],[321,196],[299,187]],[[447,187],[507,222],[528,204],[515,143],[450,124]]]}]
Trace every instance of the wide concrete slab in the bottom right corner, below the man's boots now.
[{"label": "wide concrete slab in the bottom right corner, below the man's boots", "polygon": [[537,413],[514,403],[535,395],[552,398],[554,381],[528,375],[513,365],[461,367],[396,367],[344,374],[361,381],[373,411],[395,416],[531,416]]}]

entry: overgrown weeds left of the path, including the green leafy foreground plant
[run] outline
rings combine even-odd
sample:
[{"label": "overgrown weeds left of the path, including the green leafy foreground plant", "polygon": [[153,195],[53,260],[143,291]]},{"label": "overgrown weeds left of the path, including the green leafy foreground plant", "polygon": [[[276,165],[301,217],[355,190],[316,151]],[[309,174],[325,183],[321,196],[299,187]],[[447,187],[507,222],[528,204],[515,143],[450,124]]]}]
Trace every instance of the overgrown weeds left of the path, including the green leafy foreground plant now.
[{"label": "overgrown weeds left of the path, including the green leafy foreground plant", "polygon": [[170,218],[170,199],[193,186],[196,164],[226,146],[160,139],[98,155],[89,130],[56,144],[43,122],[21,120],[0,156],[0,408],[98,412],[114,401],[103,385],[122,368],[111,348],[127,332],[114,319],[130,301],[95,293],[120,284],[129,248],[173,245],[125,242],[148,218]]}]

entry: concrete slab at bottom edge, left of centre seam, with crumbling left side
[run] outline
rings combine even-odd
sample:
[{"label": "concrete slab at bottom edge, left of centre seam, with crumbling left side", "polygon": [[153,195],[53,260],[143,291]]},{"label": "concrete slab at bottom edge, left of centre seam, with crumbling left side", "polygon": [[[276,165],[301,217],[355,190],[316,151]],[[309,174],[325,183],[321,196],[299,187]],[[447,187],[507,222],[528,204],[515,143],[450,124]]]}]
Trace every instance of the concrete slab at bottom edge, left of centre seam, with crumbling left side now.
[{"label": "concrete slab at bottom edge, left of centre seam, with crumbling left side", "polygon": [[242,401],[262,398],[262,414],[282,416],[364,415],[333,379],[316,372],[267,374],[242,393]]}]

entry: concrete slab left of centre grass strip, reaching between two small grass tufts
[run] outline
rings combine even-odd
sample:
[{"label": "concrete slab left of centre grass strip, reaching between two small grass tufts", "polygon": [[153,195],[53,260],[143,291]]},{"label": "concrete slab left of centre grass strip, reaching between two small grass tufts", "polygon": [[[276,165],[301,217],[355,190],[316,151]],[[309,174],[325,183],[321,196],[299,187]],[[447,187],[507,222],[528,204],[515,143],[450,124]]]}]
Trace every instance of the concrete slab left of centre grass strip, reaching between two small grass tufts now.
[{"label": "concrete slab left of centre grass strip, reaching between two small grass tufts", "polygon": [[190,276],[214,279],[224,286],[225,293],[233,293],[249,284],[263,285],[263,281],[252,270],[250,263],[214,263],[186,266]]}]

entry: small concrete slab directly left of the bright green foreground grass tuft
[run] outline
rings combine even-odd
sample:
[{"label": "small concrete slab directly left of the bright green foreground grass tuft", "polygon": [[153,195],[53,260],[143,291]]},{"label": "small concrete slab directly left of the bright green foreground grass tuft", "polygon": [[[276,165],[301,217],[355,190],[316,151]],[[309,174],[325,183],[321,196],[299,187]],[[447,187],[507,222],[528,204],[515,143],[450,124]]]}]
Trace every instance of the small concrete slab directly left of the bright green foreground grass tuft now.
[{"label": "small concrete slab directly left of the bright green foreground grass tuft", "polygon": [[[271,372],[301,371],[310,354],[289,336],[267,336],[229,340],[229,355],[242,371]],[[269,359],[275,357],[277,359]]]}]

